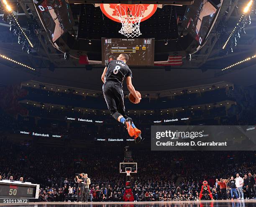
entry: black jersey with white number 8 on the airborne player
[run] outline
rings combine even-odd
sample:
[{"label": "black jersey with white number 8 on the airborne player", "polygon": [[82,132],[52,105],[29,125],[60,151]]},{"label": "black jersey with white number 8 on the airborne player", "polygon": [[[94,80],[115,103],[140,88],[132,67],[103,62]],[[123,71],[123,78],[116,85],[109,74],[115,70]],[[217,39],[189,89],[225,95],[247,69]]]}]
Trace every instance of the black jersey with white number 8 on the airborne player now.
[{"label": "black jersey with white number 8 on the airborne player", "polygon": [[132,77],[131,69],[121,60],[111,60],[107,68],[105,82],[113,81],[123,84],[125,77]]}]

